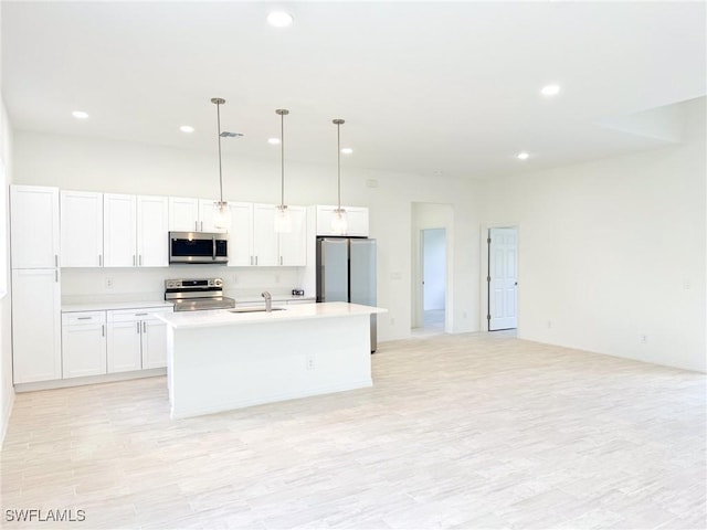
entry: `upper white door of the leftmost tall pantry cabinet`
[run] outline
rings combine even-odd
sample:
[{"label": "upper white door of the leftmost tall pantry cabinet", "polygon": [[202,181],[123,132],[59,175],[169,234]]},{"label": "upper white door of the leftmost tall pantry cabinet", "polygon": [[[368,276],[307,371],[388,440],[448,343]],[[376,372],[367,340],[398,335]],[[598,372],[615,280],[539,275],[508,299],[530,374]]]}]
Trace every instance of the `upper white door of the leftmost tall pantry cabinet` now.
[{"label": "upper white door of the leftmost tall pantry cabinet", "polygon": [[59,266],[59,188],[11,186],[12,268]]}]

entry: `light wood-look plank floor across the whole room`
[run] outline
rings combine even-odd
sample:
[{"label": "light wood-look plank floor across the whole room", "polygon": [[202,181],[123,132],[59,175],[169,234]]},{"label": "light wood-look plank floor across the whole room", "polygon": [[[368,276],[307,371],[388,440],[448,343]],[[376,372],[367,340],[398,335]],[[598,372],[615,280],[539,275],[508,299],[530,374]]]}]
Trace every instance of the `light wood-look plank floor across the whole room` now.
[{"label": "light wood-look plank floor across the whole room", "polygon": [[707,527],[704,374],[504,335],[384,342],[372,362],[371,389],[173,422],[165,378],[19,394],[0,524]]}]

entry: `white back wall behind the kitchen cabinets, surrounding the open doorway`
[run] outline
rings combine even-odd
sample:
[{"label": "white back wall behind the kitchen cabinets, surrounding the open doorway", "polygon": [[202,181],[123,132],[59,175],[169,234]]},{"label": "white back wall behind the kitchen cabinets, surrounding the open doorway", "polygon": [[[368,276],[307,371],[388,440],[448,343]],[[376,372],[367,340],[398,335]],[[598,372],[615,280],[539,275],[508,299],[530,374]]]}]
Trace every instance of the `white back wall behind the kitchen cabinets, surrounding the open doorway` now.
[{"label": "white back wall behind the kitchen cabinets, surrounding the open doorway", "polygon": [[[277,202],[279,166],[277,152],[270,161],[246,160],[242,155],[223,158],[224,198],[246,202]],[[374,180],[377,187],[368,187]],[[215,153],[178,150],[159,146],[118,142],[70,136],[15,131],[14,181],[23,184],[57,186],[62,189],[116,193],[171,194],[213,198],[219,191]],[[379,339],[410,336],[411,328],[411,203],[450,203],[454,223],[460,226],[453,254],[453,329],[478,329],[478,193],[467,180],[428,178],[418,174],[341,168],[342,202],[370,209],[370,236],[378,240],[378,304],[389,309],[379,318]],[[285,202],[289,204],[331,204],[336,199],[336,167],[287,163]],[[447,232],[449,236],[449,232]],[[115,273],[110,295],[160,289],[160,278],[170,277],[173,267],[135,276]],[[277,288],[270,279],[235,269],[243,282],[233,288],[256,290]],[[124,274],[125,273],[125,274]],[[113,273],[110,273],[113,274]],[[285,275],[285,273],[283,273]],[[104,271],[81,276],[64,272],[63,297],[82,296],[87,286],[102,288]],[[273,282],[265,285],[266,282]],[[226,277],[226,284],[229,283]],[[284,277],[281,288],[291,289]],[[83,286],[82,286],[83,285]],[[458,288],[457,288],[458,287]],[[107,294],[107,293],[104,293]]]}]

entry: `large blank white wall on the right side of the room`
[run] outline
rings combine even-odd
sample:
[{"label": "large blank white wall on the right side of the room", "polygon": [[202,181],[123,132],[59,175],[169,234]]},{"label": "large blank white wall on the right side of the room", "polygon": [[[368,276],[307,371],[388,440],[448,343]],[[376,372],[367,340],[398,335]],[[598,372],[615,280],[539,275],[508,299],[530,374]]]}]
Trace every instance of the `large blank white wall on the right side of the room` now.
[{"label": "large blank white wall on the right side of the room", "polygon": [[486,184],[484,225],[519,226],[520,338],[707,371],[705,99],[683,105],[683,145]]}]

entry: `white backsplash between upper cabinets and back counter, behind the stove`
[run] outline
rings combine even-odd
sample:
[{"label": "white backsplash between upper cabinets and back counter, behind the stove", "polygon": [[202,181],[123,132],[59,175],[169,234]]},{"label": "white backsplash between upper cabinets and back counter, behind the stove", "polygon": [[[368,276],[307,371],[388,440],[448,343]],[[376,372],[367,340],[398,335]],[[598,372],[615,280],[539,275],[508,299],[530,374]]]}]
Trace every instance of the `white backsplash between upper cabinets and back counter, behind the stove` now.
[{"label": "white backsplash between upper cabinets and back counter, behind the stove", "polygon": [[[300,267],[173,265],[155,268],[62,268],[62,304],[162,300],[169,278],[223,278],[225,296],[289,295],[302,288]],[[306,293],[314,295],[314,293]]]}]

